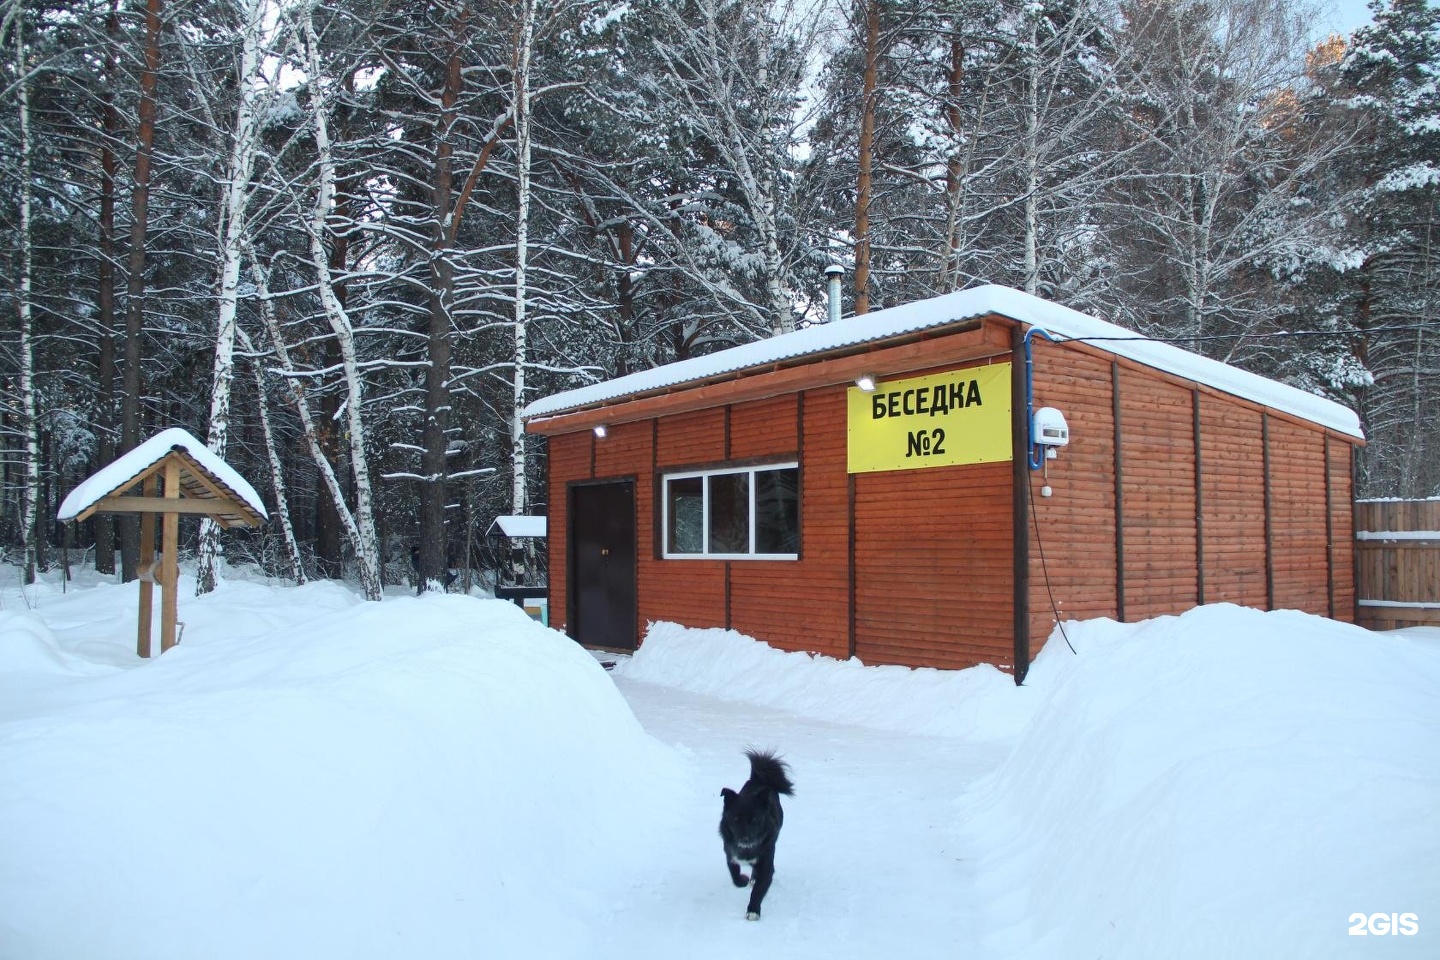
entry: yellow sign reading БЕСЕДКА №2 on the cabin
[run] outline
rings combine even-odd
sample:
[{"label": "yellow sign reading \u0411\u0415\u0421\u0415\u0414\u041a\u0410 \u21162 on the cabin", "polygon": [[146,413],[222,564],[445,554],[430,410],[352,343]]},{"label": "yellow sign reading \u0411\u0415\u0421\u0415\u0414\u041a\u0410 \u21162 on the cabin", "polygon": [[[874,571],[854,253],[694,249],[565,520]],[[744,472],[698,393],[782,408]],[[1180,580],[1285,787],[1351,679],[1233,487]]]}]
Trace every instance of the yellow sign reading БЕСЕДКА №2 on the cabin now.
[{"label": "yellow sign reading \u0411\u0415\u0421\u0415\u0414\u041a\u0410 \u21162 on the cabin", "polygon": [[1011,364],[965,367],[848,394],[851,474],[995,463],[1012,456]]}]

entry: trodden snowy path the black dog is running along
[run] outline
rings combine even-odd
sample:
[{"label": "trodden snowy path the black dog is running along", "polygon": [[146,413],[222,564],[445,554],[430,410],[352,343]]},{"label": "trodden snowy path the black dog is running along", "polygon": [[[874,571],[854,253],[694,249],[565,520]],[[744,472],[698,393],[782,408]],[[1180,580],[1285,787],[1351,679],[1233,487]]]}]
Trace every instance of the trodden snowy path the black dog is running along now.
[{"label": "trodden snowy path the black dog is running along", "polygon": [[[596,944],[603,956],[886,957],[897,944],[907,944],[907,959],[975,954],[973,875],[953,800],[998,763],[998,748],[615,681],[645,730],[685,759],[688,776],[681,822],[661,828],[672,833],[667,859],[616,891],[624,902]],[[779,750],[795,780],[760,923],[744,921],[747,894],[730,885],[716,833],[720,787],[744,782],[747,746]],[[642,806],[634,828],[647,828]]]}]

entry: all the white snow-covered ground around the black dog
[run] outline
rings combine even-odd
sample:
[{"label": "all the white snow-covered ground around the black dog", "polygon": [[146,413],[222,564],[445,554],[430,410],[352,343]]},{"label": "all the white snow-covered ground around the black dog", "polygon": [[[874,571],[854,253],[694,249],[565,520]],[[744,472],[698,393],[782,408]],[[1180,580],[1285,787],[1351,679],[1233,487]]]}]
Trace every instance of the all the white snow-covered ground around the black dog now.
[{"label": "all the white snow-covered ground around the black dog", "polygon": [[[0,957],[1440,956],[1440,630],[1092,620],[1015,688],[192,592],[143,662],[132,584],[0,569]],[[796,784],[760,923],[716,835],[746,746]]]}]

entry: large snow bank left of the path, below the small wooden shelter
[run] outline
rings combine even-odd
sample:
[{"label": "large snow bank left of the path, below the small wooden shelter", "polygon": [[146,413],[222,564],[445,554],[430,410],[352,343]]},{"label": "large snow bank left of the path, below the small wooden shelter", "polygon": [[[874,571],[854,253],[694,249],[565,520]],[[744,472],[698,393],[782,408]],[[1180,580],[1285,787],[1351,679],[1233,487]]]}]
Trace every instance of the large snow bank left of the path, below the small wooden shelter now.
[{"label": "large snow bank left of the path, below the small wooden shelter", "polygon": [[140,661],[132,594],[0,620],[0,956],[590,953],[651,855],[615,825],[680,769],[585,651],[503,602],[225,583]]}]

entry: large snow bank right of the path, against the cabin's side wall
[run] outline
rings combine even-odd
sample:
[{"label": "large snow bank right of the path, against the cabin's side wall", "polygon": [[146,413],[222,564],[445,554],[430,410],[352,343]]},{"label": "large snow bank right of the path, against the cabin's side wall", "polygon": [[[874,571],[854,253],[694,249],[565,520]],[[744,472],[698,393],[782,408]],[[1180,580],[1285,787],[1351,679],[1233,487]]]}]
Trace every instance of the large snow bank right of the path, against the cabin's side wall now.
[{"label": "large snow bank right of the path, against the cabin's side wall", "polygon": [[1067,629],[958,807],[995,956],[1338,956],[1354,913],[1418,913],[1385,940],[1433,950],[1440,646],[1225,604]]}]

